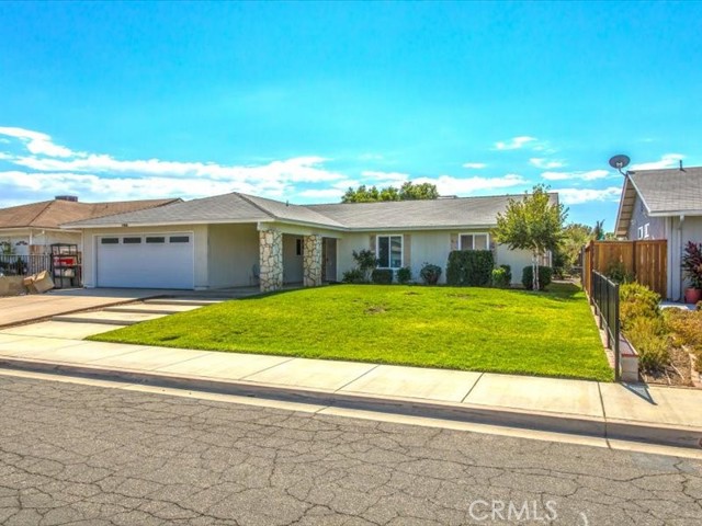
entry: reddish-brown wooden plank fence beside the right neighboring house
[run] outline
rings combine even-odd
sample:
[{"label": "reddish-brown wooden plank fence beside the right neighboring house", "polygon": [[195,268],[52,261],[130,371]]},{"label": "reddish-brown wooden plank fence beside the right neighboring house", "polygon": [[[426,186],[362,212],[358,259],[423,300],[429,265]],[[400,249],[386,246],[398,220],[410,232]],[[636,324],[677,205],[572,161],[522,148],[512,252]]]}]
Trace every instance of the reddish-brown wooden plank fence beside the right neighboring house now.
[{"label": "reddish-brown wooden plank fence beside the right neighboring house", "polygon": [[592,271],[609,274],[615,267],[668,297],[668,251],[665,239],[590,241],[582,249],[582,286],[592,294]]}]

